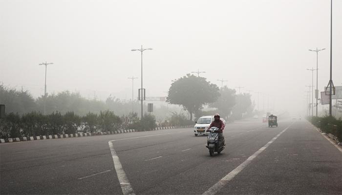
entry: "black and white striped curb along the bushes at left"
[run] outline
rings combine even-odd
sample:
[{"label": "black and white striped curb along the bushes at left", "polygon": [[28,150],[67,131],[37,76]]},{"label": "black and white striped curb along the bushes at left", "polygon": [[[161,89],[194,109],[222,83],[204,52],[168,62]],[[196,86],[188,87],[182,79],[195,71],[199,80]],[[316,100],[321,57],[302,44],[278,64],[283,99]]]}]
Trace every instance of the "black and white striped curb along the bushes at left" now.
[{"label": "black and white striped curb along the bushes at left", "polygon": [[[189,128],[192,125],[187,126],[172,126],[172,127],[156,127],[154,130],[162,130],[162,129],[180,129],[180,128]],[[63,135],[50,135],[50,136],[31,136],[31,137],[16,137],[16,138],[5,138],[0,139],[0,143],[8,143],[8,142],[18,142],[18,141],[32,141],[32,140],[43,140],[43,139],[59,139],[59,138],[69,138],[69,137],[88,137],[88,136],[99,136],[99,135],[113,135],[113,134],[123,134],[123,133],[132,133],[138,132],[134,129],[127,130],[116,130],[116,131],[108,131],[108,132],[98,132],[98,133],[76,133],[76,134],[63,134]]]}]

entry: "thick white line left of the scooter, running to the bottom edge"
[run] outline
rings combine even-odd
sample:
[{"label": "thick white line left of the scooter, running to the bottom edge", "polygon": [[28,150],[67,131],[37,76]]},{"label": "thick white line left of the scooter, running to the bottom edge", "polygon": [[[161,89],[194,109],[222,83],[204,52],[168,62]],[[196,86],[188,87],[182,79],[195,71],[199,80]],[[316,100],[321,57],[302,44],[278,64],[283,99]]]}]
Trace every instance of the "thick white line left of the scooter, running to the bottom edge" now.
[{"label": "thick white line left of the scooter, running to the bottom edge", "polygon": [[124,169],[122,168],[122,164],[119,160],[119,156],[116,155],[112,141],[114,140],[108,141],[108,145],[109,145],[109,149],[111,152],[111,156],[113,157],[114,168],[115,168],[116,175],[118,176],[118,179],[120,182],[122,194],[123,195],[135,195],[133,188],[128,181],[126,173]]}]

